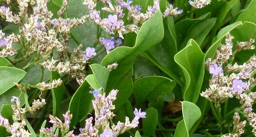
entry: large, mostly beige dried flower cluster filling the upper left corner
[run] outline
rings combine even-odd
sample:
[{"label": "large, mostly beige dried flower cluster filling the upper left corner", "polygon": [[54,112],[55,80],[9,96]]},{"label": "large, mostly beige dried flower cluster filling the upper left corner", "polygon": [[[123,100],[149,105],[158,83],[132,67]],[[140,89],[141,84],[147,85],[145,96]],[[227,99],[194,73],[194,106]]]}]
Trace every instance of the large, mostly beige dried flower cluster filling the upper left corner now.
[{"label": "large, mostly beige dried flower cluster filling the upper left corner", "polygon": [[[10,1],[7,1],[9,3]],[[29,59],[30,62],[24,66],[29,69],[37,64],[48,68],[49,71],[69,74],[71,78],[79,83],[85,79],[85,52],[82,46],[76,48],[72,53],[68,47],[70,28],[85,23],[88,16],[81,18],[62,18],[68,0],[63,1],[58,11],[59,18],[52,19],[52,12],[48,10],[49,0],[18,0],[20,12],[14,15],[10,8],[1,6],[0,16],[6,21],[20,26],[20,34],[5,36],[0,30],[0,56],[13,56],[13,63]],[[33,12],[29,9],[33,9]],[[15,51],[13,43],[22,47]],[[52,58],[54,55],[55,58]],[[19,58],[18,58],[19,57]]]}]

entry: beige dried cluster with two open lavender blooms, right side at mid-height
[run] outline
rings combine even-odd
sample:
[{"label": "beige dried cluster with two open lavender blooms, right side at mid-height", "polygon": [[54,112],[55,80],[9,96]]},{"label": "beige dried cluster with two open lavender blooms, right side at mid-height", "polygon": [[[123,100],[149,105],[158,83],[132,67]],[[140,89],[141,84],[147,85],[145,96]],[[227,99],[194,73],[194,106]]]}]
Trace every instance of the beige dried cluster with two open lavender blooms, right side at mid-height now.
[{"label": "beige dried cluster with two open lavender blooms, right side at mid-height", "polygon": [[[255,81],[251,74],[256,68],[256,55],[253,55],[243,65],[238,65],[236,63],[233,65],[226,64],[229,59],[234,59],[234,54],[236,53],[232,51],[233,38],[234,37],[232,37],[230,34],[227,34],[225,45],[221,45],[218,48],[215,59],[212,60],[209,58],[206,61],[206,66],[209,68],[212,78],[209,80],[210,88],[202,92],[201,96],[213,101],[215,105],[218,106],[226,101],[229,97],[239,96],[241,93],[249,91],[249,86]],[[239,42],[237,45],[239,45]],[[223,69],[222,66],[225,64],[226,67]],[[227,75],[225,72],[230,74]],[[242,80],[246,80],[246,82],[243,82]]]}]

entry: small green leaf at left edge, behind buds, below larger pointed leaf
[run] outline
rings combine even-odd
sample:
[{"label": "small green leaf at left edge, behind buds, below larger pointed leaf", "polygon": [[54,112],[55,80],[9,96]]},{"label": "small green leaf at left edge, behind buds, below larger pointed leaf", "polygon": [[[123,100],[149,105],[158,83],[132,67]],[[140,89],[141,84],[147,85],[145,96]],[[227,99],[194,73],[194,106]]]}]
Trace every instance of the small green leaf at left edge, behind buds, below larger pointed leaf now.
[{"label": "small green leaf at left edge, behind buds, below larger pointed leaf", "polygon": [[2,105],[11,105],[12,103],[10,100],[12,99],[12,96],[19,97],[20,98],[20,106],[23,106],[25,104],[24,99],[24,92],[16,89],[16,88],[10,88],[8,91],[0,95],[0,110],[2,108]]}]

